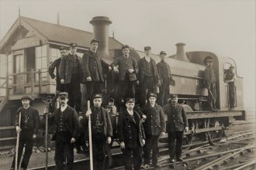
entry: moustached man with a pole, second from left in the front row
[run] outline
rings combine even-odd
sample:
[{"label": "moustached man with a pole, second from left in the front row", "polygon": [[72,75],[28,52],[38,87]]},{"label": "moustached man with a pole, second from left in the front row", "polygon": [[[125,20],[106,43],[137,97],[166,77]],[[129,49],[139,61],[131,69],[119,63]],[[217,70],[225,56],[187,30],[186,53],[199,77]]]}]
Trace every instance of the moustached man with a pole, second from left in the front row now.
[{"label": "moustached man with a pole, second from left in the front row", "polygon": [[64,169],[67,161],[67,170],[73,168],[74,142],[78,136],[78,114],[74,108],[67,105],[68,93],[59,93],[61,107],[50,114],[49,122],[52,124],[53,138],[55,141],[54,160],[57,170]]}]

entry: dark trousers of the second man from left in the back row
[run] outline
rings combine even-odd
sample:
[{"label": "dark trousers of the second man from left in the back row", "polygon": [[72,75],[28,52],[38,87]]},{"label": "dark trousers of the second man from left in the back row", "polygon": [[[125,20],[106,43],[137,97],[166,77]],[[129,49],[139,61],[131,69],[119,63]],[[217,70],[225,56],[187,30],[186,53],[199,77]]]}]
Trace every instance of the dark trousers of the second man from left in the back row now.
[{"label": "dark trousers of the second man from left in the back row", "polygon": [[80,111],[81,107],[81,89],[80,89],[80,78],[78,74],[72,74],[71,83],[67,83],[64,86],[65,92],[68,93],[67,104]]}]

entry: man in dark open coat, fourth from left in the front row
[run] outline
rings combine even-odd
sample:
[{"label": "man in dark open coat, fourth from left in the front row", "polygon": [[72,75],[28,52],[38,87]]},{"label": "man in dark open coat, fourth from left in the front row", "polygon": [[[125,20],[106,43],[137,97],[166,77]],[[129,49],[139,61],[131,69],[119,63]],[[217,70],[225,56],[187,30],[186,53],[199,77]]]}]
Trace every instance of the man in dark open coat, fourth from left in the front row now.
[{"label": "man in dark open coat, fourth from left in the front row", "polygon": [[120,113],[117,124],[117,134],[126,170],[140,169],[142,165],[141,148],[145,145],[144,128],[140,121],[140,114],[133,110],[134,105],[134,98],[126,100],[126,110]]}]

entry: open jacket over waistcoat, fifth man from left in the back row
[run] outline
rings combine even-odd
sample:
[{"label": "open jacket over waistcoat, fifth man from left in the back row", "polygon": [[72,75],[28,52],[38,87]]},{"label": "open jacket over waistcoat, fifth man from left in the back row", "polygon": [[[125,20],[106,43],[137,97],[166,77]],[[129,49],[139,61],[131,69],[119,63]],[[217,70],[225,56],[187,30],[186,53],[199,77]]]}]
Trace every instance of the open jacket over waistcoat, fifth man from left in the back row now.
[{"label": "open jacket over waistcoat, fifth man from left in the back row", "polygon": [[[140,83],[143,82],[144,80],[144,76],[145,76],[145,71],[146,71],[146,63],[147,60],[144,58],[140,59],[139,62],[138,62],[138,66],[139,66],[139,81]],[[154,59],[150,58],[150,64],[153,68],[153,76],[154,76],[154,83],[155,85],[157,85],[158,83],[158,80],[160,80],[159,78],[159,75],[158,75],[158,72],[157,72],[157,65],[156,65],[156,62],[154,61]]]}]

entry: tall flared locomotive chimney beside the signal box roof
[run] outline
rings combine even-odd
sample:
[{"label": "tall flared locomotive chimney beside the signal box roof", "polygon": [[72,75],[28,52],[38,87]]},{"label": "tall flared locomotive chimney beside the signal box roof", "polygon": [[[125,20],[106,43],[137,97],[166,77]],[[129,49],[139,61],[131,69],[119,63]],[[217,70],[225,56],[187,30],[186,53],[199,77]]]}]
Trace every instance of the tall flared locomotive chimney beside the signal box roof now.
[{"label": "tall flared locomotive chimney beside the signal box roof", "polygon": [[99,40],[98,53],[102,57],[109,57],[109,17],[95,16],[90,23],[93,26],[94,39]]}]

